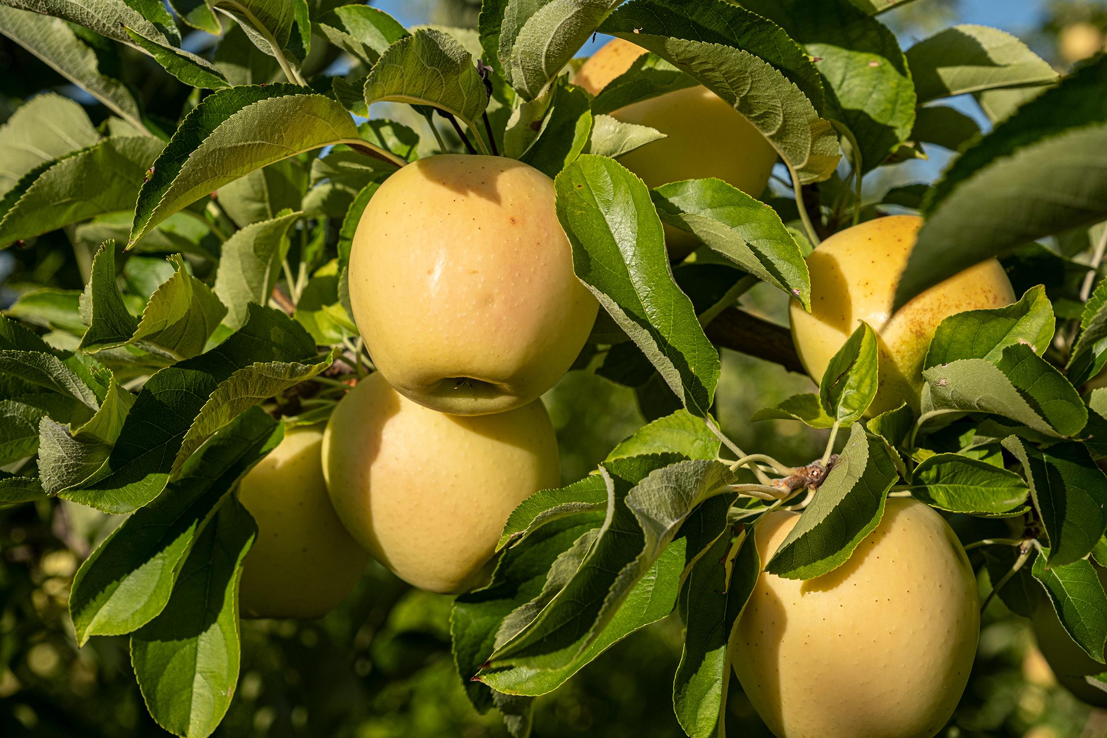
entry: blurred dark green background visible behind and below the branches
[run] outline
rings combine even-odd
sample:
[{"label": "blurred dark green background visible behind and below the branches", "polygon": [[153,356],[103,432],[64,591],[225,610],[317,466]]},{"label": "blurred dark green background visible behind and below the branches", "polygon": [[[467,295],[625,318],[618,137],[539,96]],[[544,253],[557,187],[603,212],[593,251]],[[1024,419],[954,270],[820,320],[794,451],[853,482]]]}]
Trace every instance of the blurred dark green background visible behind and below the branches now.
[{"label": "blurred dark green background visible behind and below the branches", "polygon": [[[1107,3],[1064,0],[918,0],[884,17],[904,45],[959,20],[977,20],[981,3],[995,24],[1010,13],[1032,19],[1007,30],[1026,39],[1058,69],[1104,44]],[[418,0],[399,6],[405,22],[473,25],[475,0]],[[1030,6],[1030,7],[1027,7]],[[984,8],[986,11],[987,8]],[[1072,28],[1078,25],[1078,31]],[[1099,35],[1096,37],[1097,32]],[[1079,33],[1083,45],[1074,46]],[[1069,39],[1068,45],[1066,38]],[[1096,41],[1098,39],[1098,42]],[[132,82],[151,111],[173,117],[176,83],[149,85],[135,64]],[[165,79],[165,77],[159,77]],[[61,77],[0,38],[0,121],[48,81]],[[177,102],[175,102],[177,101]],[[102,111],[93,106],[97,119]],[[941,162],[923,163],[930,177]],[[925,175],[927,171],[922,171]],[[876,183],[887,187],[888,183]],[[29,285],[79,289],[80,254],[64,235],[33,249],[3,252],[0,306]],[[86,266],[84,266],[86,268]],[[742,299],[752,312],[786,322],[777,293],[755,289]],[[825,439],[796,423],[748,423],[758,408],[805,392],[806,377],[726,352],[715,413],[744,448],[800,464],[816,458]],[[644,423],[632,389],[577,371],[545,397],[558,429],[562,475],[579,479],[623,437]],[[434,480],[427,480],[434,484]],[[0,736],[130,738],[168,735],[146,715],[125,637],[96,637],[77,649],[66,612],[80,561],[118,520],[64,501],[0,508]],[[977,562],[979,563],[979,562]],[[986,579],[986,575],[983,575]],[[990,590],[986,581],[982,591]],[[451,599],[412,590],[372,564],[353,595],[318,622],[244,621],[242,671],[220,738],[392,738],[506,735],[497,714],[468,705],[449,653]],[[680,658],[675,615],[611,648],[558,692],[538,701],[535,735],[644,738],[680,736],[672,711],[672,677]],[[731,735],[769,734],[732,679]],[[1107,714],[1093,714],[1063,689],[1033,647],[1028,624],[994,600],[984,616],[980,654],[949,738],[1101,738]]]}]

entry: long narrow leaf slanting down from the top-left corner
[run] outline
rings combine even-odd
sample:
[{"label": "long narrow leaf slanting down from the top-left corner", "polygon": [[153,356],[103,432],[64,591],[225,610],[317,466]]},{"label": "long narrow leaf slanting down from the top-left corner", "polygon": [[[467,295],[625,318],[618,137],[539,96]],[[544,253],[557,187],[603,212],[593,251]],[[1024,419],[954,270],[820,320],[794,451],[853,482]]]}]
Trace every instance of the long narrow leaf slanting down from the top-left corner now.
[{"label": "long narrow leaf slanting down from the top-left corner", "polygon": [[96,52],[77,38],[64,20],[0,4],[0,33],[102,102],[107,110],[145,131],[142,111],[131,91],[123,82],[100,71]]}]

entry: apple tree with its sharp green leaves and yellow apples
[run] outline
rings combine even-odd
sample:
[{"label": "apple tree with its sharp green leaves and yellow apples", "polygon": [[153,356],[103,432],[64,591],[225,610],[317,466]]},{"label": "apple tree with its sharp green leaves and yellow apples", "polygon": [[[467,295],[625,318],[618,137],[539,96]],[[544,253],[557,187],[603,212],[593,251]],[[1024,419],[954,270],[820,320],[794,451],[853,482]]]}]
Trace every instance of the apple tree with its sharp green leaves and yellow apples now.
[{"label": "apple tree with its sharp green leaves and yellow apples", "polygon": [[[117,522],[76,644],[127,637],[153,720],[206,737],[239,619],[324,614],[372,555],[456,595],[513,736],[674,613],[693,738],[733,675],[780,738],[938,735],[994,597],[1107,705],[1107,56],[904,50],[900,2],[0,0],[100,111],[31,90],[0,127],[0,248],[83,284],[0,316],[0,503]],[[724,433],[722,349],[814,380],[743,392],[824,453]],[[559,479],[569,370],[649,423]]]}]

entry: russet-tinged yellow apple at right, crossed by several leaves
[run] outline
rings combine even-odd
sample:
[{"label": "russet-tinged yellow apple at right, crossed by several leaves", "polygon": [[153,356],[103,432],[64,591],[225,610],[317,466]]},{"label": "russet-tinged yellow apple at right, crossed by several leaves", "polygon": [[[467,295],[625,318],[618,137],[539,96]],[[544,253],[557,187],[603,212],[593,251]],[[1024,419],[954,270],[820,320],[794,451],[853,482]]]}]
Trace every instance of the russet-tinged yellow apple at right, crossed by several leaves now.
[{"label": "russet-tinged yellow apple at right, crossed by several leaves", "polygon": [[877,332],[879,389],[870,416],[903,402],[919,409],[922,362],[943,319],[1015,301],[1003,267],[989,259],[935,284],[892,315],[899,274],[921,226],[918,216],[888,216],[823,241],[807,257],[811,312],[796,301],[789,311],[799,361],[816,382],[860,321]]}]

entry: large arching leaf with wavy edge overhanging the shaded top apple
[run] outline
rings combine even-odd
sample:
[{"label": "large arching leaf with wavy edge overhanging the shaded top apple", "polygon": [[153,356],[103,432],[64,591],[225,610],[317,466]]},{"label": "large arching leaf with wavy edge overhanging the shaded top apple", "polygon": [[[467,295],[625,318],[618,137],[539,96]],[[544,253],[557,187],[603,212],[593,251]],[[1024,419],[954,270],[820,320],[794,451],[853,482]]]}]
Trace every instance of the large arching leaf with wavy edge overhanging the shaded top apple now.
[{"label": "large arching leaf with wavy edge overhanging the shaded top apple", "polygon": [[[826,179],[837,167],[838,138],[818,113],[818,75],[774,23],[715,0],[634,0],[612,13],[600,31],[656,53],[734,106],[801,183]],[[748,90],[757,94],[746,94]]]}]

